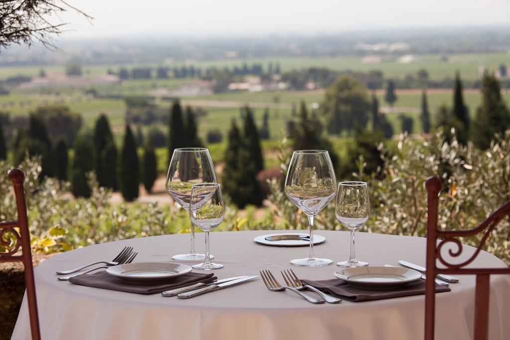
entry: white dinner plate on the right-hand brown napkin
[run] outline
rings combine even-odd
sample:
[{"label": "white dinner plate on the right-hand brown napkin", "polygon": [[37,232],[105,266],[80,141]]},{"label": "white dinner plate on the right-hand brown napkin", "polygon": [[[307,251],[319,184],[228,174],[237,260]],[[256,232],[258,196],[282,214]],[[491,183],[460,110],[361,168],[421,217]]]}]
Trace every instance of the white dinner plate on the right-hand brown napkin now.
[{"label": "white dinner plate on the right-hand brown napkin", "polygon": [[362,288],[394,288],[421,279],[421,273],[400,267],[353,267],[335,272],[339,279]]}]

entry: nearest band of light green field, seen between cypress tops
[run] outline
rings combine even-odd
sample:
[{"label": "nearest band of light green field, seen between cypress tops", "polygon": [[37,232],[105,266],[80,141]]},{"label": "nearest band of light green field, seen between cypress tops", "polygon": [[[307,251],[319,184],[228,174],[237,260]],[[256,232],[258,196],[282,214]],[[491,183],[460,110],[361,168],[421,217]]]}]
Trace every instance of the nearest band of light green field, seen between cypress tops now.
[{"label": "nearest band of light green field, seen between cypress tops", "polygon": [[[392,112],[387,113],[388,119],[393,125],[395,133],[400,133],[400,121],[398,115],[406,113],[415,118],[414,132],[421,132],[421,123],[417,119],[420,106],[421,106],[421,93],[419,91],[397,91],[398,100],[395,103]],[[384,102],[384,93],[377,94],[381,107],[387,106]],[[510,103],[510,93],[505,93],[504,98]],[[280,106],[273,107],[273,99],[278,97]],[[478,91],[467,90],[464,93],[465,101],[469,107],[472,116],[476,112],[476,107],[480,104],[481,95]],[[428,95],[429,110],[432,114],[432,120],[435,120],[435,113],[442,104],[451,106],[452,92],[448,90],[431,90]],[[191,98],[189,98],[191,99]],[[208,112],[207,116],[200,117],[199,119],[199,134],[200,137],[205,139],[207,132],[212,129],[219,129],[224,136],[230,127],[233,118],[240,117],[240,110],[238,107],[232,107],[232,103],[239,103],[241,106],[244,102],[251,103],[264,103],[263,107],[267,106],[270,110],[270,136],[271,139],[279,139],[285,133],[286,122],[291,119],[291,103],[298,104],[299,101],[305,100],[307,103],[320,102],[322,93],[319,91],[310,92],[259,92],[259,93],[232,93],[232,94],[218,94],[207,97],[195,97],[193,100],[207,100],[214,101],[215,106],[201,106],[202,109]],[[221,102],[227,102],[228,106],[221,107]],[[117,141],[120,141],[120,135],[123,133],[125,104],[123,100],[113,99],[88,99],[83,95],[21,95],[12,94],[9,96],[0,96],[0,109],[8,111],[12,116],[28,115],[34,111],[37,106],[44,103],[59,103],[63,102],[68,105],[72,111],[78,112],[84,119],[85,126],[92,127],[95,119],[100,113],[106,113],[110,118],[114,133],[118,136]],[[192,101],[193,102],[193,101]],[[266,105],[267,104],[267,105]],[[161,106],[170,110],[169,102],[162,102]],[[257,124],[262,124],[262,117],[264,108],[253,108],[253,113],[256,118]]]}]

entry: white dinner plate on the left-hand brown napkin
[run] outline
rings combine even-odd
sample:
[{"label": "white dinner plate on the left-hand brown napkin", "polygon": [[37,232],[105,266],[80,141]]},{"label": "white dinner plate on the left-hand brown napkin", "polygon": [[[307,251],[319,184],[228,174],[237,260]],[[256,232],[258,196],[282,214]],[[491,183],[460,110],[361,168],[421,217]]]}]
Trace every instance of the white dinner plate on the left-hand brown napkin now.
[{"label": "white dinner plate on the left-hand brown napkin", "polygon": [[110,267],[108,274],[117,276],[124,281],[147,283],[168,281],[174,277],[191,272],[188,265],[171,262],[139,262]]}]

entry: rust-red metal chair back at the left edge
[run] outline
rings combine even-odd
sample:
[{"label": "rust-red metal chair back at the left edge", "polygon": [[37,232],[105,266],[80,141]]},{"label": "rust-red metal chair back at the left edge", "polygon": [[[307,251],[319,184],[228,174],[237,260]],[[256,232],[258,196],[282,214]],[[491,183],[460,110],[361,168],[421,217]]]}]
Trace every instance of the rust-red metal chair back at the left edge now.
[{"label": "rust-red metal chair back at the left edge", "polygon": [[[14,194],[16,195],[18,219],[17,221],[0,222],[0,245],[7,248],[7,251],[0,251],[0,262],[23,263],[32,339],[39,340],[41,335],[39,331],[39,317],[37,315],[34,267],[32,266],[32,252],[30,249],[27,206],[25,204],[25,194],[23,190],[24,178],[24,173],[19,169],[14,169],[9,172],[9,179],[14,186]],[[19,229],[19,232],[16,228]],[[21,254],[17,254],[20,247],[22,250]]]}]

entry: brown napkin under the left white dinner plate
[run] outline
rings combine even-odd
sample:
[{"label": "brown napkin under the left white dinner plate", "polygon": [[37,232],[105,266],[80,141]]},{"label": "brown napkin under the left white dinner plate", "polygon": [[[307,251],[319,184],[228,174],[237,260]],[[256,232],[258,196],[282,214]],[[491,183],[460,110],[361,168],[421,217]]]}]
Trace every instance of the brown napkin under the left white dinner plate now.
[{"label": "brown napkin under the left white dinner plate", "polygon": [[112,291],[136,293],[136,294],[155,294],[168,291],[170,289],[185,287],[198,282],[210,282],[216,280],[217,277],[213,273],[200,274],[188,273],[167,281],[157,283],[129,283],[110,275],[107,272],[99,272],[94,274],[83,274],[71,277],[69,282],[74,284],[86,285],[101,289],[109,289]]}]

